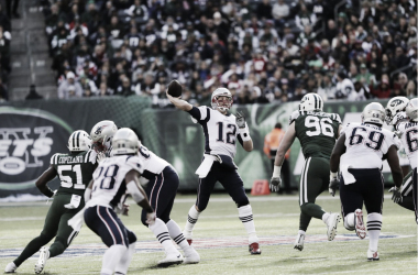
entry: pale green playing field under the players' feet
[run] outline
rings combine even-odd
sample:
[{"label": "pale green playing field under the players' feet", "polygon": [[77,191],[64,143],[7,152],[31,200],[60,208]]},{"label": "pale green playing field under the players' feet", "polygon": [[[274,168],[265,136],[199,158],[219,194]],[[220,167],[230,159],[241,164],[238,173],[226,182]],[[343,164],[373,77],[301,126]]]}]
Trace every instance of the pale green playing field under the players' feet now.
[{"label": "pale green playing field under the players' feet", "polygon": [[[386,191],[387,193],[387,191]],[[172,219],[182,228],[196,196],[177,196]],[[157,268],[164,256],[152,232],[141,224],[140,207],[131,202],[123,223],[138,237],[136,253],[129,274],[417,274],[417,224],[414,212],[385,196],[378,262],[367,262],[369,240],[338,227],[336,240],[327,240],[327,228],[314,220],[304,251],[294,250],[298,231],[297,196],[250,197],[262,254],[250,255],[244,227],[227,195],[213,195],[194,231],[194,245],[201,262]],[[340,211],[340,201],[322,195],[317,201],[326,211]],[[51,205],[51,202],[50,202]],[[43,227],[48,206],[45,202],[0,205],[0,267],[4,271],[26,243]],[[87,227],[63,255],[46,263],[46,274],[99,274],[106,246]],[[34,274],[37,253],[24,262],[18,274]]]}]

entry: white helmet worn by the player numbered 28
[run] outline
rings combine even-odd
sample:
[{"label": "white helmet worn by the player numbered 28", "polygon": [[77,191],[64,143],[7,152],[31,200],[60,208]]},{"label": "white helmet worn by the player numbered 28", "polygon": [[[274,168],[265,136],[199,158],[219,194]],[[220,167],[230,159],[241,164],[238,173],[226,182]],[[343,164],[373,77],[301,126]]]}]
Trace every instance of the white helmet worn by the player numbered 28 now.
[{"label": "white helmet worn by the player numbered 28", "polygon": [[129,128],[121,128],[113,135],[112,155],[136,154],[141,142],[135,132]]}]

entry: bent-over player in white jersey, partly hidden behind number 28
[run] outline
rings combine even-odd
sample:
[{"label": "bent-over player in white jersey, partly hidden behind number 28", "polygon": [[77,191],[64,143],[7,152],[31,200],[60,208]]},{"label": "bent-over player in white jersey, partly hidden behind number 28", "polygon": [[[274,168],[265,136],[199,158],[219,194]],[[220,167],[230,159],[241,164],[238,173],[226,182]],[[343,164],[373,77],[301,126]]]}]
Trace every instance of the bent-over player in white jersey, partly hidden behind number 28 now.
[{"label": "bent-over player in white jersey, partly hidden behind number 28", "polygon": [[[101,152],[112,150],[112,136],[117,130],[113,121],[101,121],[91,130],[95,148]],[[143,178],[150,180],[145,193],[150,198],[151,206],[156,210],[156,221],[148,226],[146,221],[146,211],[142,211],[142,223],[148,227],[157,240],[162,243],[166,257],[158,262],[158,266],[168,266],[178,264],[183,261],[182,254],[174,246],[170,238],[183,249],[186,258],[185,264],[194,264],[200,261],[199,254],[185,240],[178,224],[169,218],[174,199],[177,194],[179,179],[177,172],[166,161],[148,151],[142,144],[139,145],[138,156],[142,160]],[[124,199],[125,197],[123,197]],[[118,212],[124,211],[123,199],[116,206]],[[180,257],[179,257],[180,255]]]}]

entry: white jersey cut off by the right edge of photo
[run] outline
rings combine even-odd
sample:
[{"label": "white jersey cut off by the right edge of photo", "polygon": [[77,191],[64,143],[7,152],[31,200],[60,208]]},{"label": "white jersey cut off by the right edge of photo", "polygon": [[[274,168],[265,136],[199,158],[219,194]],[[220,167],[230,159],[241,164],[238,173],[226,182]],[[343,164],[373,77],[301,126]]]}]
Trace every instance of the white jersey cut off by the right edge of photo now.
[{"label": "white jersey cut off by the right edge of photo", "polygon": [[409,164],[415,169],[417,167],[418,148],[418,122],[400,122],[396,125],[400,132],[400,142],[405,147],[405,153],[409,158]]}]

